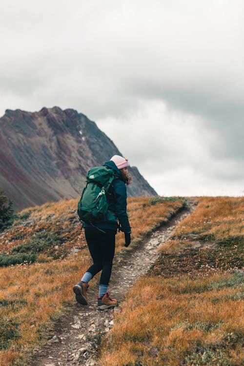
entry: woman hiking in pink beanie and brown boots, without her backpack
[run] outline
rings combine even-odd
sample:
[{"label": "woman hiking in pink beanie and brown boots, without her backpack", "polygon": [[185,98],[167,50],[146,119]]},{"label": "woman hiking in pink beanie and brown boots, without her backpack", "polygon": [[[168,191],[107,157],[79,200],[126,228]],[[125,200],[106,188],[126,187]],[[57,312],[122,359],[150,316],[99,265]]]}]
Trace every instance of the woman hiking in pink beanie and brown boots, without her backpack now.
[{"label": "woman hiking in pink beanie and brown boots, without her backpack", "polygon": [[[126,213],[126,184],[131,183],[131,177],[128,173],[128,159],[114,155],[103,166],[112,169],[114,172],[115,178],[106,193],[108,210],[116,215],[120,228],[124,233],[124,245],[127,247],[131,242],[131,227]],[[117,224],[116,222],[101,222],[98,224],[84,222],[83,227],[93,264],[84,273],[81,281],[73,287],[76,300],[81,305],[87,305],[88,283],[102,270],[99,285],[98,309],[105,310],[115,307],[118,305],[118,302],[109,296],[107,289],[115,253],[115,235],[118,229],[118,222]]]}]

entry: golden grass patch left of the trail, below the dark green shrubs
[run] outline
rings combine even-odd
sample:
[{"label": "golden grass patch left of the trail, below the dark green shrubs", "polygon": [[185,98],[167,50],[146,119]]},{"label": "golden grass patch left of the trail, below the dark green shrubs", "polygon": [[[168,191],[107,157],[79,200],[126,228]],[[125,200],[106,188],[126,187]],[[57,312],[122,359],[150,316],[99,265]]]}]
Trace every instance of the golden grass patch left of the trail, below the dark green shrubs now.
[{"label": "golden grass patch left of the trail, below the dark green shrubs", "polygon": [[72,300],[72,284],[85,271],[89,260],[87,251],[86,255],[79,254],[78,258],[72,256],[63,261],[0,269],[0,299],[14,301],[13,306],[0,307],[0,316],[17,319],[21,334],[20,339],[11,342],[10,349],[0,352],[0,365],[12,365],[5,360],[11,356],[12,348],[19,355],[20,349],[23,353],[26,346],[36,344],[50,326],[50,320],[61,315],[62,305]]}]

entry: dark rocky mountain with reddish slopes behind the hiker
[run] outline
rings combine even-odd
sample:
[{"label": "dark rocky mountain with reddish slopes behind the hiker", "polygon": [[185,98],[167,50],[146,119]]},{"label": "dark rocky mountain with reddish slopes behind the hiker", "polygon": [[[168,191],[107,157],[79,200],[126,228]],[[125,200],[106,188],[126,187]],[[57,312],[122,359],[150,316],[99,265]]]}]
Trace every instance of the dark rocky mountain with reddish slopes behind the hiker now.
[{"label": "dark rocky mountain with reddish slopes behind the hiker", "polygon": [[[85,115],[74,109],[7,109],[0,118],[0,190],[16,209],[79,197],[87,170],[122,155]],[[128,197],[157,193],[136,167]]]}]

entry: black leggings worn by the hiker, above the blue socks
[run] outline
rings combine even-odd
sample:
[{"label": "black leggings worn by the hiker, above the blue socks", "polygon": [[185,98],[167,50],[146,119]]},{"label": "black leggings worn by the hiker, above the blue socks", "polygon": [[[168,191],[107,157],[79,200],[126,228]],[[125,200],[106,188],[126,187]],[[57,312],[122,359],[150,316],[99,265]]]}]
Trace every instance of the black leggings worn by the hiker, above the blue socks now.
[{"label": "black leggings worn by the hiker, above the blue socks", "polygon": [[93,260],[93,264],[86,272],[90,272],[94,277],[102,270],[100,285],[108,285],[114,259],[116,231],[108,229],[102,231],[97,228],[85,228],[85,239]]}]

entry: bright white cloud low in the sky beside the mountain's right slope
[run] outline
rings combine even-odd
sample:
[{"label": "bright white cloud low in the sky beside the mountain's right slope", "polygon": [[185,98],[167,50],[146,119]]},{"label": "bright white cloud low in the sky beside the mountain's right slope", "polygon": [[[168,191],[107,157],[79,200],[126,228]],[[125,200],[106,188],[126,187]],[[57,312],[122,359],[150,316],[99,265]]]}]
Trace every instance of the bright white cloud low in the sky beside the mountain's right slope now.
[{"label": "bright white cloud low in the sky beside the mountain's right slope", "polygon": [[159,194],[203,195],[213,188],[212,194],[241,195],[243,161],[214,157],[219,134],[198,116],[153,101],[131,115],[97,122]]}]

